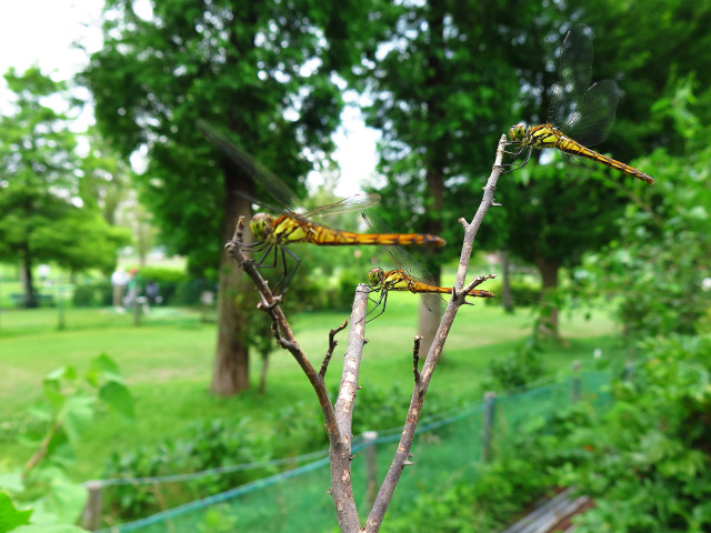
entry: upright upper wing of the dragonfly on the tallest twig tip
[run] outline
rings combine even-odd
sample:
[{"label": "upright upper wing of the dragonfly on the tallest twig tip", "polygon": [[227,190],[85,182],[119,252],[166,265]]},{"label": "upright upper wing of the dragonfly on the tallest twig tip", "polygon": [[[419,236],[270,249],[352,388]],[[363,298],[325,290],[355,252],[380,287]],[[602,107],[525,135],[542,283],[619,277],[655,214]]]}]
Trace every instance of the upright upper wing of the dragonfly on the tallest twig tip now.
[{"label": "upright upper wing of the dragonfly on the tallest twig tip", "polygon": [[592,31],[573,26],[560,46],[558,82],[553,86],[548,112],[549,123],[559,127],[575,111],[592,78]]}]

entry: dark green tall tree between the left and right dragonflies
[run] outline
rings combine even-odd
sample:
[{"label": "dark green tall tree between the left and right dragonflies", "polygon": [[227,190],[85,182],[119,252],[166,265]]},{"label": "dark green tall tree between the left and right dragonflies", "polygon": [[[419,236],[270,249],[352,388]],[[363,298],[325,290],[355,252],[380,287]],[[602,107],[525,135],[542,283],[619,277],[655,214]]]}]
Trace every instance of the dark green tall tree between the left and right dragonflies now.
[{"label": "dark green tall tree between the left and right dragonflies", "polygon": [[[442,221],[473,213],[478,192],[465,183],[487,175],[510,117],[508,102],[519,90],[507,59],[507,28],[529,11],[431,0],[384,12],[387,31],[351,78],[372,97],[368,124],[382,131],[379,170],[388,181],[380,192],[389,208],[383,217],[397,230],[443,234],[454,252],[461,232]],[[423,258],[438,282],[448,257]],[[438,322],[421,309],[422,350]]]}]

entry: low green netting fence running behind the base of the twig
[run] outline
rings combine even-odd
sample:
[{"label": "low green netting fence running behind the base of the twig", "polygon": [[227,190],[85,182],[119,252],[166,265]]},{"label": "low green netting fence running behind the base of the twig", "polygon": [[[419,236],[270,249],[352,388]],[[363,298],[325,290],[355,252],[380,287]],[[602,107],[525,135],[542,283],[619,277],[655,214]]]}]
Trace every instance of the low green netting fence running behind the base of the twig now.
[{"label": "low green netting fence running behind the base of the twig", "polygon": [[[470,405],[422,419],[412,446],[412,460],[415,464],[402,473],[385,514],[383,531],[387,531],[388,515],[401,515],[411,510],[419,494],[442,492],[461,479],[475,483],[477,464],[482,461],[484,450],[484,435],[490,436],[487,449],[493,446],[495,450],[504,445],[507,436],[514,434],[521,424],[537,416],[549,418],[575,400],[589,402],[598,411],[604,411],[611,403],[607,386],[609,383],[608,371],[585,370],[554,383],[498,394],[495,400],[482,399]],[[488,415],[492,420],[489,430],[484,429]],[[368,454],[364,449],[372,446],[371,455],[374,450],[379,486],[392,460],[400,432],[401,428],[381,431],[368,444],[364,444],[362,435],[353,440],[353,491],[361,514],[365,514],[367,509]],[[292,470],[101,531],[338,532],[333,502],[327,493],[330,483],[328,451],[306,457],[310,462]],[[161,479],[152,482],[159,483]],[[112,484],[112,480],[100,483],[106,486]]]}]

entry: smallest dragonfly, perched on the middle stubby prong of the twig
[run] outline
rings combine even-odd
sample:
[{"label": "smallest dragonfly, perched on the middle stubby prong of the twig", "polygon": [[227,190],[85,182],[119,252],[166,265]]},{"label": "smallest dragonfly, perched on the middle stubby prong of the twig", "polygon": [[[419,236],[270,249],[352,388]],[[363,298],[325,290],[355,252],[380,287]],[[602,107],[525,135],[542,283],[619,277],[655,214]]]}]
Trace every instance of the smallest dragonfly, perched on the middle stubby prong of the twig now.
[{"label": "smallest dragonfly, perched on the middle stubby prong of the twig", "polygon": [[[369,217],[362,212],[362,218],[372,231],[383,231],[387,229],[385,222],[373,215]],[[447,305],[442,294],[451,294],[452,289],[438,286],[434,283],[434,278],[424,268],[424,265],[418,262],[401,247],[388,244],[382,248],[397,268],[394,270],[385,271],[380,266],[375,266],[368,272],[368,282],[370,283],[368,285],[369,292],[380,293],[380,299],[377,302],[372,300],[375,303],[375,306],[371,309],[368,314],[373,313],[377,309],[380,309],[380,312],[370,318],[368,322],[375,320],[385,312],[388,293],[390,291],[409,291],[413,294],[420,294],[424,306],[429,311],[442,314],[442,311]],[[492,292],[479,289],[472,289],[467,293],[467,295],[477,298],[497,296]]]}]

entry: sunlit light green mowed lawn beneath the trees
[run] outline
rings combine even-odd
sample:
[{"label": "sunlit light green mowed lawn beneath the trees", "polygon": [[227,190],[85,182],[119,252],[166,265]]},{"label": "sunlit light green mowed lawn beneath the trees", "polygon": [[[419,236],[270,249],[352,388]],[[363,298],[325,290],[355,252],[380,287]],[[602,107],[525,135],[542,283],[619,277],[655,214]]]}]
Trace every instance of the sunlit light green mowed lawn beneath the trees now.
[{"label": "sunlit light green mowed lawn beneath the trees", "polygon": [[[294,334],[314,366],[320,366],[326,353],[329,330],[346,318],[347,313],[293,318]],[[361,386],[411,388],[417,320],[415,299],[390,295],[385,315],[367,325],[369,343],[361,364]],[[298,402],[316,403],[306,378],[284,351],[270,356],[266,395],[256,391],[260,372],[256,354],[250,368],[252,390],[233,398],[210,394],[217,331],[216,324],[200,322],[197,311],[153,309],[137,328],[132,316],[112,309],[69,309],[66,322],[67,328],[58,331],[57,310],[52,309],[0,314],[0,469],[22,464],[31,455],[30,449],[17,443],[17,436],[31,416],[29,408],[42,398],[42,378],[68,364],[81,372],[101,352],[120,365],[134,396],[138,420],[131,423],[102,412],[79,445],[72,470],[78,480],[101,476],[112,452],[180,436],[199,421],[249,419],[254,426],[270,431],[264,425],[269,414]],[[520,346],[531,323],[525,310],[508,315],[497,306],[461,309],[430,390],[454,403],[478,399],[489,362]],[[561,315],[561,332],[569,344],[548,346],[543,355],[551,371],[567,370],[575,359],[590,360],[595,348],[605,353],[615,350],[615,326],[603,312],[590,320]],[[347,335],[343,331],[337,338],[340,345],[327,374],[329,390],[340,381]]]}]

